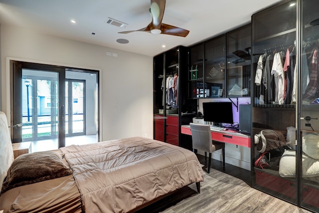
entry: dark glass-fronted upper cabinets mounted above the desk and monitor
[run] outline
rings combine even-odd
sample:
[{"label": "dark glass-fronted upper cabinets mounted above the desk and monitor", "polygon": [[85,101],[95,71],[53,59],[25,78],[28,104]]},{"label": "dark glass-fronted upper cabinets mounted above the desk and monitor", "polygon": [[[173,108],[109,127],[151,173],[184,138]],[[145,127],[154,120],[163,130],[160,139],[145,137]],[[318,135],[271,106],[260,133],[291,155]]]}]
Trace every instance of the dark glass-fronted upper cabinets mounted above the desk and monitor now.
[{"label": "dark glass-fronted upper cabinets mounted above the desk and monitor", "polygon": [[190,47],[189,98],[250,96],[251,25]]}]

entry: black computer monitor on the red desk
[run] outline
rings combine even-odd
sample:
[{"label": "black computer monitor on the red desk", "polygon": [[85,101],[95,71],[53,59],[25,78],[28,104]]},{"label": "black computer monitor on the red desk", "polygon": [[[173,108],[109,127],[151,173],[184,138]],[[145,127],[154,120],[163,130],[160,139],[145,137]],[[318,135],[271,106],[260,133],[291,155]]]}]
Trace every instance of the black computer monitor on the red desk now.
[{"label": "black computer monitor on the red desk", "polygon": [[204,102],[204,121],[233,124],[233,105],[231,102]]}]

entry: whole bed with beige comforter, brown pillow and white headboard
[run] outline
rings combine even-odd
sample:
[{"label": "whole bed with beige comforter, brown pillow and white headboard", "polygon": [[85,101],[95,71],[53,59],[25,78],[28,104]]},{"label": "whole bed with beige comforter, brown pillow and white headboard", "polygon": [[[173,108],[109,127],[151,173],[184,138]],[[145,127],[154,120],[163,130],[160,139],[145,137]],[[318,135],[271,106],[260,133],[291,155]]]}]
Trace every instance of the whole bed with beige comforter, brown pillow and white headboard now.
[{"label": "whole bed with beige comforter, brown pillow and white headboard", "polygon": [[[132,137],[18,156],[0,112],[0,210],[135,212],[196,183],[203,171],[189,150]],[[53,165],[53,166],[52,166]]]}]

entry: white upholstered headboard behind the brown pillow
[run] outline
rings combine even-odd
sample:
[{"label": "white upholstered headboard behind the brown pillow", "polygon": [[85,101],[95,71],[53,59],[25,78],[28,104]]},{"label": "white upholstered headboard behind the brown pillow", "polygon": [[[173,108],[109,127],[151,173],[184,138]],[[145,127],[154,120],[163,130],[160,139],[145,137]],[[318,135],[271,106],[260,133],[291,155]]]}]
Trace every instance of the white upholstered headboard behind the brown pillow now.
[{"label": "white upholstered headboard behind the brown pillow", "polygon": [[0,192],[7,171],[14,160],[6,116],[0,111]]}]

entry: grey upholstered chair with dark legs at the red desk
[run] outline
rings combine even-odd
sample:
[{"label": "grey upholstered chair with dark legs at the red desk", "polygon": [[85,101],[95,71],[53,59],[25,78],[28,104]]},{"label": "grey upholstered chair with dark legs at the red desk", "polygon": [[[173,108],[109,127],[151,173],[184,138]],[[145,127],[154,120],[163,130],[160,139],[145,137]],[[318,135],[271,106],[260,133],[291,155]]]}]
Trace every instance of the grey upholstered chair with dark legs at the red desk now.
[{"label": "grey upholstered chair with dark legs at the red desk", "polygon": [[190,123],[189,126],[193,141],[193,149],[204,151],[205,161],[207,161],[207,152],[209,153],[207,173],[210,172],[211,153],[219,149],[222,149],[223,167],[225,168],[225,143],[212,141],[209,125]]}]

